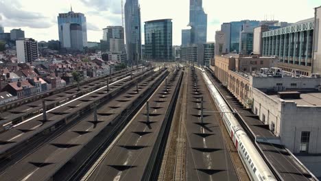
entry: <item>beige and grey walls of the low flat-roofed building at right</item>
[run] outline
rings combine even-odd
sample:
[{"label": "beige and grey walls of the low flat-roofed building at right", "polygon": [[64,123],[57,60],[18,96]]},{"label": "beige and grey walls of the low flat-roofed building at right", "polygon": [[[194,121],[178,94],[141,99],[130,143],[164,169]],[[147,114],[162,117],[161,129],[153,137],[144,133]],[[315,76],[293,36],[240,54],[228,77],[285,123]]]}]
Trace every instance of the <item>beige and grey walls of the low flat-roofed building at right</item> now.
[{"label": "beige and grey walls of the low flat-roofed building at right", "polygon": [[274,134],[292,153],[300,153],[301,133],[310,133],[309,154],[321,153],[321,106],[297,106],[294,101],[272,99],[257,88],[252,88],[254,114],[269,125]]}]

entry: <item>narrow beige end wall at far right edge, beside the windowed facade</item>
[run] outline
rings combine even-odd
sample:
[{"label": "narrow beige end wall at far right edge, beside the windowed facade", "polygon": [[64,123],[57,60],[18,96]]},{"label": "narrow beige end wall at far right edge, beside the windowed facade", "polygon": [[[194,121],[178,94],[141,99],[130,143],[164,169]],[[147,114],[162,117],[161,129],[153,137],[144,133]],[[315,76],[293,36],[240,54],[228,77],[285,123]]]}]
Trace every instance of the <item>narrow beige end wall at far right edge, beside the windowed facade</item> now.
[{"label": "narrow beige end wall at far right edge, beside the windowed facade", "polygon": [[313,73],[321,73],[321,6],[316,8],[314,25]]}]

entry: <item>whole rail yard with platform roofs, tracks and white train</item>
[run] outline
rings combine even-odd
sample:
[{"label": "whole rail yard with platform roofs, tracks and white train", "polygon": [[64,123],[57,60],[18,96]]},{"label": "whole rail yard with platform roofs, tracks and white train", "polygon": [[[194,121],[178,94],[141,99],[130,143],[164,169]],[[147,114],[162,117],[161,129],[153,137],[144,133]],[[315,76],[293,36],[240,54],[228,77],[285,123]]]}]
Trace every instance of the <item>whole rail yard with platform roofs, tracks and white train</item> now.
[{"label": "whole rail yard with platform roofs, tracks and white train", "polygon": [[315,180],[255,140],[211,69],[137,67],[1,110],[0,180]]}]

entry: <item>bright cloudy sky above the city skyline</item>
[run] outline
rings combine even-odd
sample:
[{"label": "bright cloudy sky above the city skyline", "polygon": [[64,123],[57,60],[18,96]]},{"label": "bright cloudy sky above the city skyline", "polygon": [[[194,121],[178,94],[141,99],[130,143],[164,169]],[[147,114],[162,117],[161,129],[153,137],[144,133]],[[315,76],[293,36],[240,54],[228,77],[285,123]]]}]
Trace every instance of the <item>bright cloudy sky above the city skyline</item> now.
[{"label": "bright cloudy sky above the city skyline", "polygon": [[[181,30],[189,23],[189,0],[139,0],[139,3],[142,29],[145,21],[172,19],[173,45],[180,45]],[[69,12],[70,5],[73,12],[85,14],[88,41],[99,42],[104,27],[121,25],[121,0],[0,0],[0,25],[5,32],[21,28],[26,38],[58,40],[58,13]],[[320,5],[321,0],[203,0],[208,14],[207,41],[215,40],[215,31],[225,22],[274,19],[295,23],[312,18],[313,8]]]}]

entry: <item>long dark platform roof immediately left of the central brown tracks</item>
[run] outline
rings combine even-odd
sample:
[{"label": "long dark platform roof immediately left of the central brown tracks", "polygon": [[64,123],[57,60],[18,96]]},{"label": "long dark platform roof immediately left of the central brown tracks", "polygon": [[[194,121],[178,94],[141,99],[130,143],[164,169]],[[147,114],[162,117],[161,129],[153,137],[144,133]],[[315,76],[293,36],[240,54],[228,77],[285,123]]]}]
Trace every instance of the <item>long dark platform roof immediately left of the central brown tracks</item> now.
[{"label": "long dark platform roof immediately left of the central brown tracks", "polygon": [[[154,92],[81,180],[156,180],[164,154],[182,73],[176,71]],[[167,82],[167,84],[165,83]],[[108,167],[105,167],[108,165]]]}]

